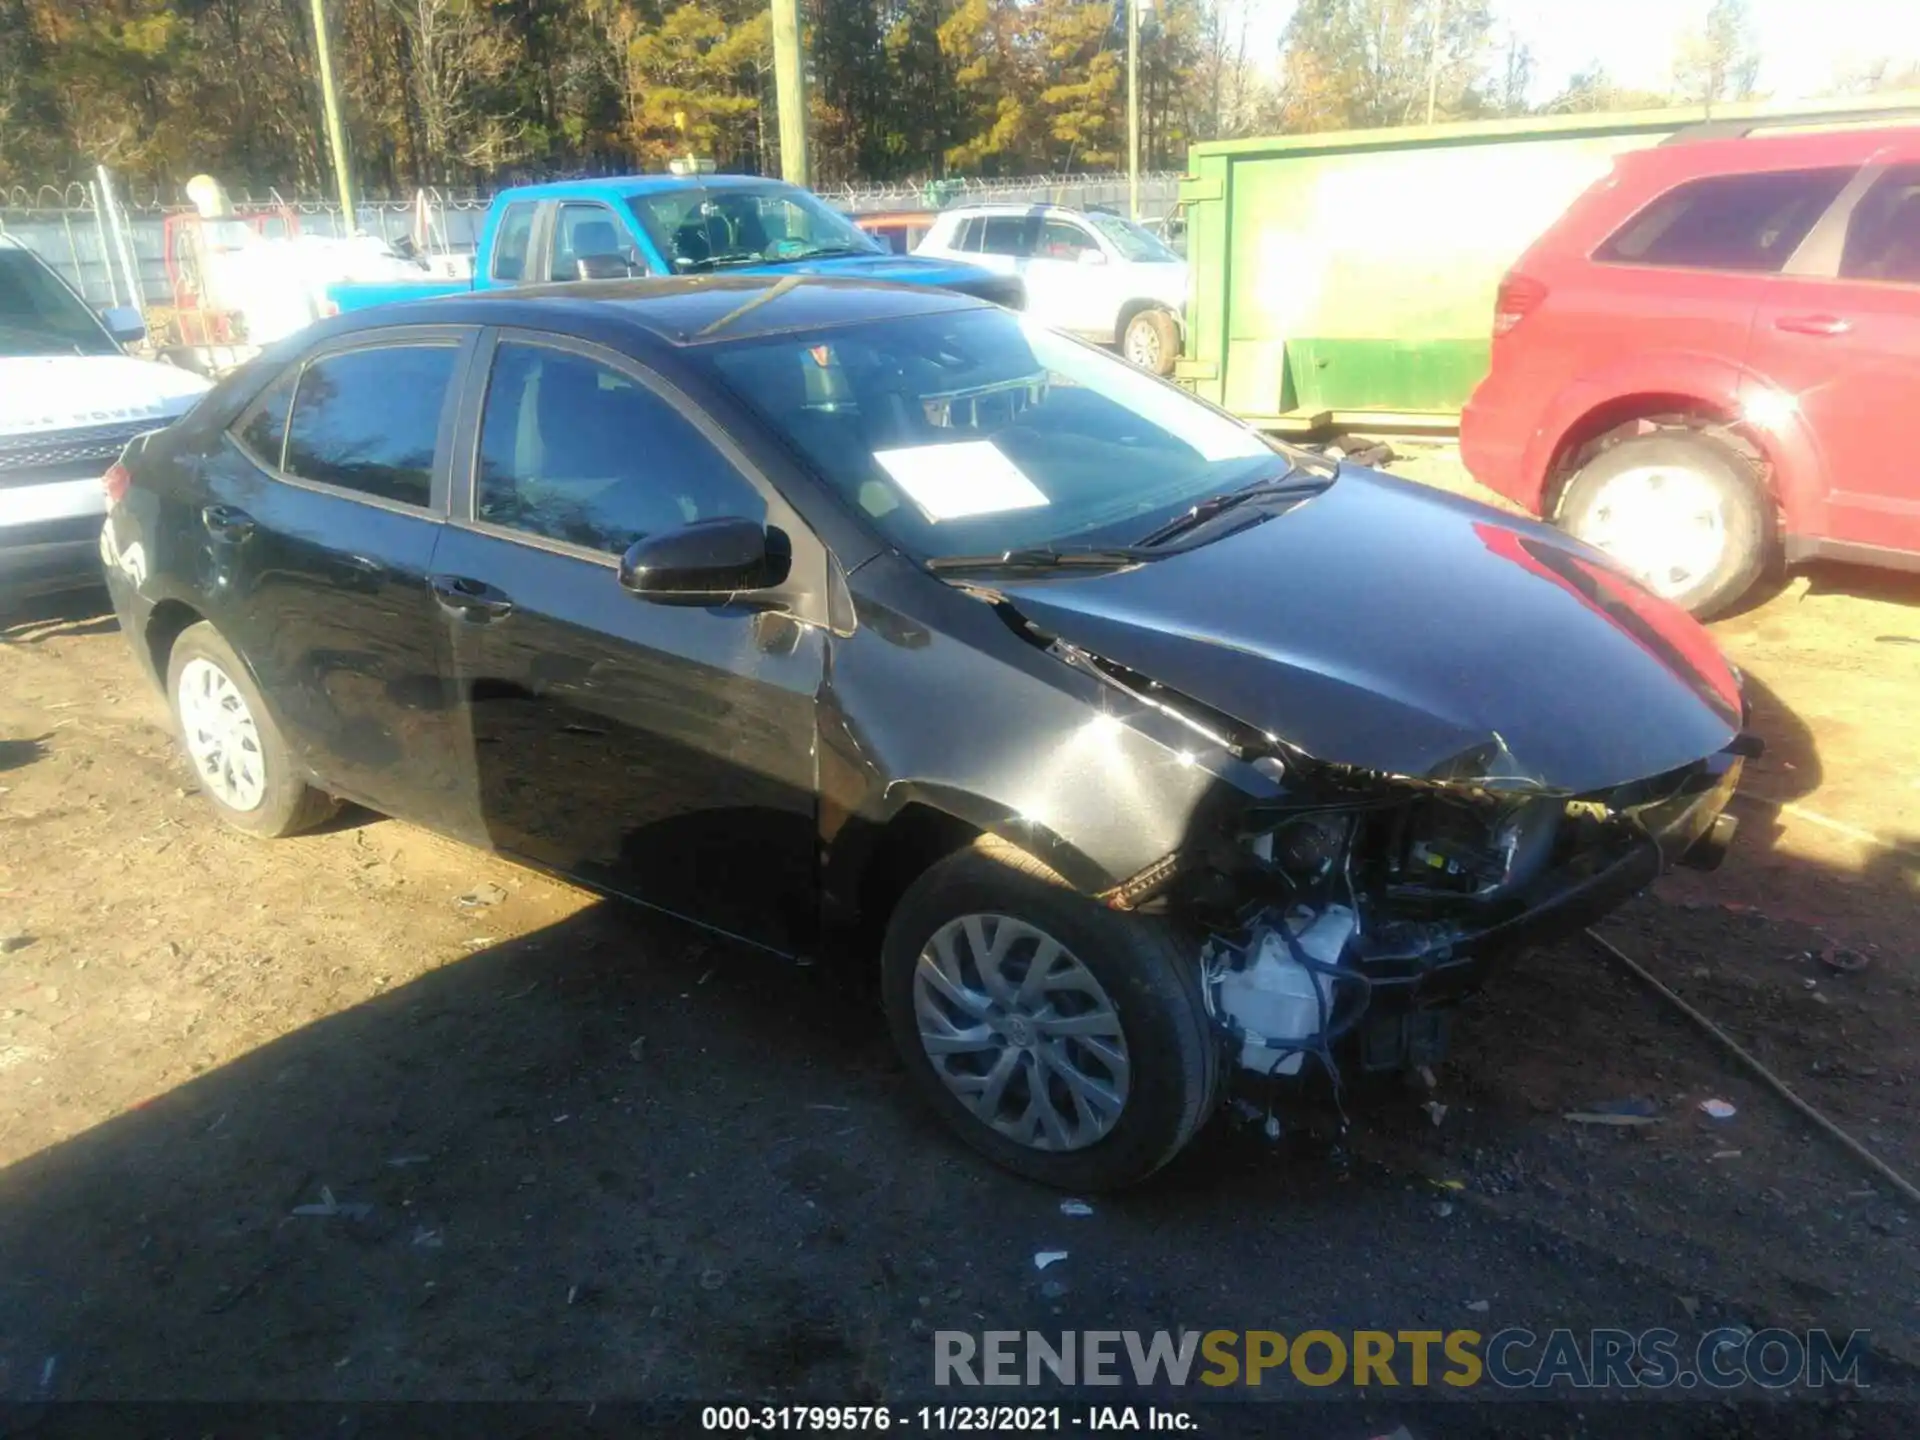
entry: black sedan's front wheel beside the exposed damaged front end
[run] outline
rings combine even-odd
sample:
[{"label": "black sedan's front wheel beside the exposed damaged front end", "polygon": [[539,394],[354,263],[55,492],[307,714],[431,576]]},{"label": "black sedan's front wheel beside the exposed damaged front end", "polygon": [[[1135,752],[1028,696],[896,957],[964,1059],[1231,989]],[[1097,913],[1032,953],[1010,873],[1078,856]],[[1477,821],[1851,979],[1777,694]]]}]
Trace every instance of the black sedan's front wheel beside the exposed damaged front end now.
[{"label": "black sedan's front wheel beside the exposed damaged front end", "polygon": [[935,1114],[1044,1185],[1146,1179],[1206,1123],[1219,1089],[1192,947],[993,837],[900,899],[881,998]]}]

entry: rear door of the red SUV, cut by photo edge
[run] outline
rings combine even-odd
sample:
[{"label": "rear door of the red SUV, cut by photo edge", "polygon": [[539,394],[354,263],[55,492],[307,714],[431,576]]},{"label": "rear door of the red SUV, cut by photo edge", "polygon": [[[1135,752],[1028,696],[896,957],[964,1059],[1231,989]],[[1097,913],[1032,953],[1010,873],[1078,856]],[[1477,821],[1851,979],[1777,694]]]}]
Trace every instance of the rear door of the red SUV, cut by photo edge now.
[{"label": "rear door of the red SUV, cut by photo edge", "polygon": [[1751,369],[1812,432],[1820,538],[1920,551],[1920,146],[1882,156],[1832,219],[1768,286]]}]

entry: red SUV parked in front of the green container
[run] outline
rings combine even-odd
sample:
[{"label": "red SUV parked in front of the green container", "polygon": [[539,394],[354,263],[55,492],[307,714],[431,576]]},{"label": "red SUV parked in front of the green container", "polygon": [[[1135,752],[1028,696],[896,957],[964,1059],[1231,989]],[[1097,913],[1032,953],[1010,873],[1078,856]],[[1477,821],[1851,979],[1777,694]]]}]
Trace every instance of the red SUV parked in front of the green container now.
[{"label": "red SUV parked in front of the green container", "polygon": [[1620,156],[1501,280],[1459,442],[1695,614],[1776,555],[1920,568],[1920,127]]}]

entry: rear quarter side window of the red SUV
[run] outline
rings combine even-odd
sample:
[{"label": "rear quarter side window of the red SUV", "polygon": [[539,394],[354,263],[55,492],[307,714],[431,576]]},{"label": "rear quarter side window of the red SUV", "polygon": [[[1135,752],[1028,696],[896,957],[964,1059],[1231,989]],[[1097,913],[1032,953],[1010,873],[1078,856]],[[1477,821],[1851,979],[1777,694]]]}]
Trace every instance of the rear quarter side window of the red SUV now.
[{"label": "rear quarter side window of the red SUV", "polygon": [[1597,259],[1776,275],[1855,173],[1847,165],[1690,180],[1620,227]]}]

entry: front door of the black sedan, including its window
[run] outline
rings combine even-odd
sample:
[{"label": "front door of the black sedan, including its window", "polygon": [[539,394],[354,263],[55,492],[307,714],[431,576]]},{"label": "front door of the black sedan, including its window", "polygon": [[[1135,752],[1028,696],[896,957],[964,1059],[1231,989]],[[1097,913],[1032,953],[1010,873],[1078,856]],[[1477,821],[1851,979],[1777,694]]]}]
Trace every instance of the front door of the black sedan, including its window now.
[{"label": "front door of the black sedan, including its window", "polygon": [[465,403],[442,624],[503,851],[793,950],[816,914],[814,697],[824,632],[628,593],[641,536],[778,524],[818,543],[684,396],[580,342],[503,332]]}]

